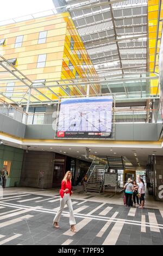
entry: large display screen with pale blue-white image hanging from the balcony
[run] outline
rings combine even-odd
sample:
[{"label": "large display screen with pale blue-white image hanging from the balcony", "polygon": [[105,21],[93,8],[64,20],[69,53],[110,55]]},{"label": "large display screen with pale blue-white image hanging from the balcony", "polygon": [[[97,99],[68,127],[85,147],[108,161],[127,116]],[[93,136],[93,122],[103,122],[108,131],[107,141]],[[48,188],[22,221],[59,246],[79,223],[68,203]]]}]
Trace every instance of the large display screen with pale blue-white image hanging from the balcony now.
[{"label": "large display screen with pale blue-white image hanging from the balcony", "polygon": [[112,97],[62,99],[57,137],[109,137]]}]

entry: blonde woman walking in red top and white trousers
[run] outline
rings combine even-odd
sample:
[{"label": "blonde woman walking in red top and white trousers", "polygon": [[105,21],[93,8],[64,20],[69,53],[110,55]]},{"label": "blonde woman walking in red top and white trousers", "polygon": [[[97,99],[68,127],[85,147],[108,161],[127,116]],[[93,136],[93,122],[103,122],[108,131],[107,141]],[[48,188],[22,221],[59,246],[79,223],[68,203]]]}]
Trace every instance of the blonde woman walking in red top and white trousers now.
[{"label": "blonde woman walking in red top and white trousers", "polygon": [[53,225],[55,228],[59,228],[58,222],[60,220],[62,210],[64,210],[64,206],[65,206],[65,204],[67,204],[68,210],[70,211],[70,230],[73,232],[76,232],[76,229],[74,227],[74,225],[76,224],[76,221],[74,219],[72,202],[71,202],[71,198],[70,198],[71,194],[73,193],[72,185],[71,185],[71,178],[72,178],[72,174],[71,174],[70,170],[68,170],[64,176],[64,179],[62,179],[62,182],[61,182],[61,189],[59,191],[60,196],[61,196],[60,208],[59,208],[57,214],[55,215],[55,218],[53,220]]}]

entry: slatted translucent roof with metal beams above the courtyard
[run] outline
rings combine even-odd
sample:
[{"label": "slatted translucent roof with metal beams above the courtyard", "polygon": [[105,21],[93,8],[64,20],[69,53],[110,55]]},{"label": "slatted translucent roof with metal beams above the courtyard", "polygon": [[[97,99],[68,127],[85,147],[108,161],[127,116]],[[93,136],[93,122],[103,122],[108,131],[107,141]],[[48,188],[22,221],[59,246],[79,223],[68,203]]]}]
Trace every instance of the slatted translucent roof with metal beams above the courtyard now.
[{"label": "slatted translucent roof with metal beams above the courtyard", "polygon": [[147,0],[66,2],[99,76],[146,71]]}]

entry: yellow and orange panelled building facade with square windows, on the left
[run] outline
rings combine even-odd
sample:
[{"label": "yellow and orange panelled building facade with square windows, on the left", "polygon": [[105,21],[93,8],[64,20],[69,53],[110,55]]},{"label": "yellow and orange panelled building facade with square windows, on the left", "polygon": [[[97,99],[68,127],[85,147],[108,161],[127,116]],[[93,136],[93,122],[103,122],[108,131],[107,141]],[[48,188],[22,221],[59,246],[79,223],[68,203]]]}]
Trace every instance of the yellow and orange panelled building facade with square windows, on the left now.
[{"label": "yellow and orange panelled building facade with square windows, on the left", "polygon": [[[1,26],[0,42],[0,54],[7,60],[16,59],[16,68],[33,82],[42,81],[46,82],[47,86],[52,86],[55,84],[52,81],[56,80],[97,76],[69,13]],[[21,87],[22,83],[15,82],[15,85]],[[0,86],[4,87],[4,83]],[[80,95],[81,92],[86,95],[86,86],[79,85],[79,90],[73,86],[62,88],[64,90],[55,84],[51,90],[59,96],[67,96],[66,92],[69,95]],[[22,90],[26,92],[27,88],[21,87]],[[57,96],[46,88],[39,90],[49,99],[57,99]],[[97,91],[99,92],[98,88]],[[7,89],[4,88],[3,92],[7,92]],[[12,95],[11,92],[8,94],[10,97],[20,97],[17,92],[18,90],[14,90]],[[90,87],[90,94],[95,94],[93,87]],[[36,92],[35,96],[47,101]],[[31,97],[31,101],[35,102],[35,99]]]}]

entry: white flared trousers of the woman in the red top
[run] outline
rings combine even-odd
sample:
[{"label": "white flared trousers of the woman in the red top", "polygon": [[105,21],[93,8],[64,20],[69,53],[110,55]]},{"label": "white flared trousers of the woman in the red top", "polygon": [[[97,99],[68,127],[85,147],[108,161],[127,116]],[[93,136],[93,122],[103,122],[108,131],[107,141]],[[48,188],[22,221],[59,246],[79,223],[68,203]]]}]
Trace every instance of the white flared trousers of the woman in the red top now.
[{"label": "white flared trousers of the woman in the red top", "polygon": [[60,198],[60,208],[59,208],[57,214],[55,215],[53,222],[59,222],[60,221],[61,213],[64,210],[65,204],[67,204],[68,210],[70,211],[70,219],[69,219],[70,225],[75,225],[76,220],[75,220],[74,215],[73,215],[72,202],[71,202],[71,198],[70,198],[69,193],[68,194],[65,193],[64,197]]}]

